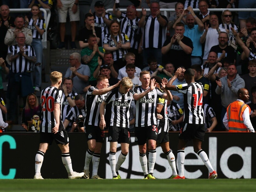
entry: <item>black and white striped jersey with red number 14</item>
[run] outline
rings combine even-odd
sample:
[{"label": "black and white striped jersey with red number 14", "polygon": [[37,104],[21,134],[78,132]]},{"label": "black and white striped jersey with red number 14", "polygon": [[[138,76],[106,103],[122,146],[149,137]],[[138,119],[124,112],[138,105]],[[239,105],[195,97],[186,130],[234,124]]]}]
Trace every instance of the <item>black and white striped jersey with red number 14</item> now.
[{"label": "black and white striped jersey with red number 14", "polygon": [[184,98],[184,120],[189,124],[204,124],[203,111],[203,85],[201,83],[190,83],[175,85]]}]

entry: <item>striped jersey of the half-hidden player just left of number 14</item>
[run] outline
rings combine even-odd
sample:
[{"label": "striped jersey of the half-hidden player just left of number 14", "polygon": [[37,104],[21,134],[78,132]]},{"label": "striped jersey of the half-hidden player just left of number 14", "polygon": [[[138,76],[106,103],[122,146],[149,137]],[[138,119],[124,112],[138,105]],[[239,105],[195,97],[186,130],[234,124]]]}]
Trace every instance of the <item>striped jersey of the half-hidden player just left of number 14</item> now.
[{"label": "striped jersey of the half-hidden player just left of number 14", "polygon": [[163,105],[163,109],[160,114],[163,116],[163,119],[157,119],[158,130],[161,127],[161,132],[169,131],[168,123],[168,113],[167,113],[167,100],[163,98],[158,98],[157,104]]}]

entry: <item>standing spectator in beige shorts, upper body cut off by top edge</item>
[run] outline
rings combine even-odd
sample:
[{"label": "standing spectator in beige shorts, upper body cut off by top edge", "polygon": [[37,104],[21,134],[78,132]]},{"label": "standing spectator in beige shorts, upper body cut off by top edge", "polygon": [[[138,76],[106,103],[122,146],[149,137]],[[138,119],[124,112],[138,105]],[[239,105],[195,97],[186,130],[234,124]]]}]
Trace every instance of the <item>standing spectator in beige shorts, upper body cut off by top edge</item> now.
[{"label": "standing spectator in beige shorts, upper body cut off by top edge", "polygon": [[69,12],[69,19],[71,25],[71,48],[76,49],[76,21],[80,21],[78,0],[57,0],[57,8],[59,13],[60,23],[60,43],[59,49],[65,48],[65,33],[66,33],[66,19],[67,12]]}]

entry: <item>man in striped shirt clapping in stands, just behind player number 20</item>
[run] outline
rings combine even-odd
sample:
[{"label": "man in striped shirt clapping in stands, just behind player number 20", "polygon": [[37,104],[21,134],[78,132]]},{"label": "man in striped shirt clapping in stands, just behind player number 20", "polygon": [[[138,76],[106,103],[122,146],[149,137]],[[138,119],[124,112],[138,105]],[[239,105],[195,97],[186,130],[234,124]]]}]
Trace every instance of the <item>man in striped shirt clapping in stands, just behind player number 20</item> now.
[{"label": "man in striped shirt clapping in stands, just behind player number 20", "polygon": [[[63,92],[61,115],[62,115],[62,122],[64,122],[67,114],[69,113],[70,108],[75,106],[74,99],[75,99],[75,96],[77,96],[78,94],[72,90],[73,80],[70,77],[64,78],[61,89]],[[72,127],[72,124],[70,123],[67,126],[67,130],[69,130],[71,127]]]}]

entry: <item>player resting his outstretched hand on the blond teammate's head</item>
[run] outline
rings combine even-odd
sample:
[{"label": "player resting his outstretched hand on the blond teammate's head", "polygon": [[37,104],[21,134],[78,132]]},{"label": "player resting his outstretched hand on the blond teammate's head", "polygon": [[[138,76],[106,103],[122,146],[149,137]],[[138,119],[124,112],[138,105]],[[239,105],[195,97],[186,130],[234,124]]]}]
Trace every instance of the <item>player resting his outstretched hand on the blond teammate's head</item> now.
[{"label": "player resting his outstretched hand on the blond teammate's head", "polygon": [[99,109],[107,93],[119,87],[119,82],[109,87],[109,80],[105,75],[96,78],[96,87],[90,87],[86,93],[86,116],[84,120],[88,150],[84,163],[84,178],[89,179],[89,164],[92,159],[92,179],[101,179],[98,176],[100,150],[104,142],[104,129],[99,127]]}]

